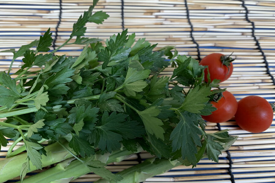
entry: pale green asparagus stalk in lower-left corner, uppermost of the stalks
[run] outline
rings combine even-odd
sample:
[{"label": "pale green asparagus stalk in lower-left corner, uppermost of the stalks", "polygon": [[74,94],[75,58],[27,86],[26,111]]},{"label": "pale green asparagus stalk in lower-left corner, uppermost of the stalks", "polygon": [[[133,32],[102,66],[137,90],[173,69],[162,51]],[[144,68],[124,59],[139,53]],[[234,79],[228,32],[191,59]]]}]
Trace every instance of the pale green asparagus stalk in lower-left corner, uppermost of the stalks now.
[{"label": "pale green asparagus stalk in lower-left corner, uppermost of the stalks", "polygon": [[[66,143],[68,145],[68,143]],[[63,149],[58,143],[54,143],[45,147],[47,156],[42,156],[42,167],[49,166],[54,163],[71,158],[72,155]],[[27,153],[23,153],[11,158],[0,161],[0,183],[8,181],[12,178],[20,176],[22,164],[26,162]],[[36,170],[36,167],[30,163],[30,171]]]}]

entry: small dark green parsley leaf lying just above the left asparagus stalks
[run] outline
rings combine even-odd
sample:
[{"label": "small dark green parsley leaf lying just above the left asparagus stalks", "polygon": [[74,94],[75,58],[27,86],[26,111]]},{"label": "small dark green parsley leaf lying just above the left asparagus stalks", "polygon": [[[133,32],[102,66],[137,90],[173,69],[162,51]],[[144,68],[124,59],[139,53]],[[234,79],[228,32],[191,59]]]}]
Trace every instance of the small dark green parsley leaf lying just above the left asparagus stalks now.
[{"label": "small dark green parsley leaf lying just above the left asparagus stalks", "polygon": [[92,145],[86,140],[78,137],[76,134],[72,134],[72,140],[69,142],[69,147],[72,148],[76,154],[82,157],[85,157],[85,155],[90,157],[95,154],[95,149]]}]

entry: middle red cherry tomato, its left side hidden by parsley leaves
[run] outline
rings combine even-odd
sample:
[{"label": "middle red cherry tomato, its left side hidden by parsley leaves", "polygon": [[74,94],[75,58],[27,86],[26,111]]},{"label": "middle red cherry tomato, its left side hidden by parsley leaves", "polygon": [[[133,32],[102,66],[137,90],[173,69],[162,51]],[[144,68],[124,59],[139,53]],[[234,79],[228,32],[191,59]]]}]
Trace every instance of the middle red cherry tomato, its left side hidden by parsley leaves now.
[{"label": "middle red cherry tomato, its left side hidden by parsley leaves", "polygon": [[238,106],[236,98],[229,91],[224,91],[222,95],[223,97],[218,102],[211,102],[217,110],[209,116],[202,116],[204,120],[221,123],[230,120],[234,116]]}]

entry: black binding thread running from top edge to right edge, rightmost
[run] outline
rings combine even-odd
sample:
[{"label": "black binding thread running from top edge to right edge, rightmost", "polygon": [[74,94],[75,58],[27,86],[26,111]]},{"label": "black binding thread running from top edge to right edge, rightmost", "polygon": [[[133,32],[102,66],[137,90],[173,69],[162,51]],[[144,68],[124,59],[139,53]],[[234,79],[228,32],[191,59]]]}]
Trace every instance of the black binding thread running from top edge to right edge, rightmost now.
[{"label": "black binding thread running from top edge to right edge, rightmost", "polygon": [[275,85],[275,80],[274,80],[274,77],[273,77],[273,75],[270,73],[270,71],[269,71],[269,66],[268,66],[268,62],[267,62],[267,60],[266,60],[266,56],[265,56],[265,53],[262,51],[262,48],[261,48],[261,46],[260,46],[260,43],[259,43],[259,41],[257,40],[257,38],[256,38],[256,36],[255,36],[255,24],[254,24],[254,22],[251,22],[250,20],[249,20],[249,18],[248,18],[248,9],[247,9],[247,7],[246,7],[246,5],[245,5],[245,2],[244,2],[244,0],[240,0],[241,2],[242,2],[242,6],[243,6],[243,8],[244,8],[244,10],[245,10],[245,20],[247,21],[247,22],[249,22],[249,23],[251,23],[251,25],[252,25],[252,28],[251,28],[251,30],[252,30],[252,37],[254,38],[254,41],[256,42],[256,46],[257,46],[257,48],[256,49],[258,49],[261,53],[262,53],[262,57],[263,57],[263,59],[264,59],[264,63],[266,64],[266,73],[271,77],[271,80],[272,80],[272,83]]}]

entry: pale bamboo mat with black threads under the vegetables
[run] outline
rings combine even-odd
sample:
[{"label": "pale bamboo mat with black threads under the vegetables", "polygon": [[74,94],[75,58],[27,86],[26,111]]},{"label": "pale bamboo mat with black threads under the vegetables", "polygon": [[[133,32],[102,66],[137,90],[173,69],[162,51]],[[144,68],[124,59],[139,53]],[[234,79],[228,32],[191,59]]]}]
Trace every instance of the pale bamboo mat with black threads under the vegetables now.
[{"label": "pale bamboo mat with black threads under the vegetables", "polygon": [[[0,51],[39,39],[48,27],[55,31],[54,47],[60,46],[91,2],[1,0]],[[106,39],[128,28],[129,33],[136,32],[137,38],[158,43],[157,49],[174,45],[179,54],[196,59],[213,52],[234,52],[233,74],[220,84],[221,88],[227,88],[238,100],[258,95],[275,102],[275,0],[100,0],[94,11],[98,10],[107,12],[110,18],[103,25],[88,23],[86,37]],[[79,56],[81,49],[79,45],[68,45],[56,54]],[[11,59],[12,54],[0,53],[0,70],[8,69]],[[13,64],[14,71],[20,59]],[[167,68],[163,75],[171,76],[172,72],[173,68]],[[274,124],[264,133],[252,134],[234,121],[208,123],[209,132],[230,129],[231,135],[239,136],[229,151],[222,153],[219,163],[201,160],[193,169],[179,166],[146,183],[275,183]],[[0,159],[8,148],[2,149]],[[139,155],[108,168],[121,171],[151,157],[147,152]],[[97,175],[87,174],[74,182],[97,179]]]}]

